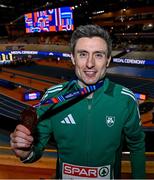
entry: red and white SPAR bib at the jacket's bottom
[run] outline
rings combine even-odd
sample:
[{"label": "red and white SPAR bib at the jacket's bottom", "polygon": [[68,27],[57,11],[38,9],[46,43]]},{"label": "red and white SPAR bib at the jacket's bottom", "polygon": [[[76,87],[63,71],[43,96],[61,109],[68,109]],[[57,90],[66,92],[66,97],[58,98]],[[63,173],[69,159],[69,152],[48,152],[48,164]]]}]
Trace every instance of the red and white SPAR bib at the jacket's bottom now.
[{"label": "red and white SPAR bib at the jacket's bottom", "polygon": [[76,166],[63,163],[63,178],[110,178],[110,165],[102,167]]}]

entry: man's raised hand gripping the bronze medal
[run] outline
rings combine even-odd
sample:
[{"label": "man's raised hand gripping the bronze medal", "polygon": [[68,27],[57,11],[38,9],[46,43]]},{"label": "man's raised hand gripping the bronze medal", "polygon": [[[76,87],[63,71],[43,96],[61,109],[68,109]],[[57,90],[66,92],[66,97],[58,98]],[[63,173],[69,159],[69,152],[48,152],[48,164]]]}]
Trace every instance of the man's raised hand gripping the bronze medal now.
[{"label": "man's raised hand gripping the bronze medal", "polygon": [[31,132],[23,125],[19,124],[14,132],[10,134],[10,145],[17,157],[22,159],[28,157],[33,144]]}]

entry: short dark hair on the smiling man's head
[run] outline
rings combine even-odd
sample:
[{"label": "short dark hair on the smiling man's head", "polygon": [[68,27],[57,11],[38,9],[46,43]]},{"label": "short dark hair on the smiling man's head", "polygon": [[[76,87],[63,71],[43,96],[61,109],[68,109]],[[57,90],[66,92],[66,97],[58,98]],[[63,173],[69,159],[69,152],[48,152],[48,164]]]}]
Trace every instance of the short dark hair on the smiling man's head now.
[{"label": "short dark hair on the smiling man's head", "polygon": [[112,52],[112,41],[110,35],[105,29],[101,28],[98,25],[92,25],[92,24],[81,25],[72,33],[72,37],[70,41],[71,52],[74,54],[74,49],[78,39],[82,37],[91,38],[94,36],[100,37],[105,40],[108,50],[107,57],[109,58]]}]

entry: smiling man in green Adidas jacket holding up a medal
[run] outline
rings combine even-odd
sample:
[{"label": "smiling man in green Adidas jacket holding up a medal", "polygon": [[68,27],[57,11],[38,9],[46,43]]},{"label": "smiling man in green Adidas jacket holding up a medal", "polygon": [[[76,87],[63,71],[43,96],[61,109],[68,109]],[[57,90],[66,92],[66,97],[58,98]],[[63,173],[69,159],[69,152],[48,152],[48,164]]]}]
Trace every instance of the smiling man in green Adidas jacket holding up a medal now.
[{"label": "smiling man in green Adidas jacket holding up a medal", "polygon": [[[134,94],[105,78],[111,47],[108,33],[99,26],[85,25],[74,31],[71,59],[77,79],[47,90],[37,108],[34,136],[23,125],[10,136],[11,147],[23,162],[38,160],[53,133],[58,178],[117,178],[125,138],[132,177],[145,178],[144,133]],[[51,105],[51,98],[64,100]]]}]

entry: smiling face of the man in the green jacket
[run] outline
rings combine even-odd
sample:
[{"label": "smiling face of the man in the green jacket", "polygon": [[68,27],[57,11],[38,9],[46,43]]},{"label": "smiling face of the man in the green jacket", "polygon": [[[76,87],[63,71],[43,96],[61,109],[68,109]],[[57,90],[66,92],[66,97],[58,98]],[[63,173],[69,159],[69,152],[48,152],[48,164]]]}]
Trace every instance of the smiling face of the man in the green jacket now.
[{"label": "smiling face of the man in the green jacket", "polygon": [[102,38],[80,38],[76,43],[72,62],[82,85],[95,84],[101,80],[110,59],[111,57],[107,58],[107,44]]}]

